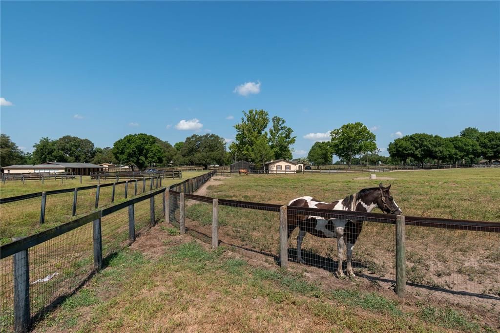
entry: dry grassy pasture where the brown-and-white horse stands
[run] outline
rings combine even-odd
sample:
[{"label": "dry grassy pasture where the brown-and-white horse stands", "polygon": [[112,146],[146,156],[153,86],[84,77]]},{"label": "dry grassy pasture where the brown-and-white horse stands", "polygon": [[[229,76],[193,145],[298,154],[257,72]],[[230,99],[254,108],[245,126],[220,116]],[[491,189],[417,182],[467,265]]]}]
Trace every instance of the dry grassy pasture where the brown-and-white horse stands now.
[{"label": "dry grassy pasture where the brown-and-white horse stands", "polygon": [[[364,179],[357,179],[363,177]],[[214,178],[207,195],[235,200],[285,204],[290,199],[311,195],[333,201],[389,183],[391,193],[405,215],[500,221],[500,170],[452,169],[397,171],[378,174],[394,179],[370,180],[363,174],[241,175]],[[373,212],[380,212],[375,209]],[[209,233],[211,205],[189,201],[186,226]],[[278,253],[278,214],[244,208],[219,206],[219,239],[236,245]],[[394,226],[365,222],[354,248],[354,271],[383,281],[393,280]],[[297,231],[289,241],[294,258]],[[302,243],[303,258],[325,273],[336,265],[335,240],[307,235]],[[481,306],[499,306],[500,234],[406,227],[407,277],[410,282],[451,291],[465,291],[472,297],[444,293],[454,301],[476,301]],[[331,275],[330,275],[331,276]],[[390,286],[390,285],[389,285]],[[414,293],[427,293],[427,289]],[[490,295],[496,300],[475,296]]]}]

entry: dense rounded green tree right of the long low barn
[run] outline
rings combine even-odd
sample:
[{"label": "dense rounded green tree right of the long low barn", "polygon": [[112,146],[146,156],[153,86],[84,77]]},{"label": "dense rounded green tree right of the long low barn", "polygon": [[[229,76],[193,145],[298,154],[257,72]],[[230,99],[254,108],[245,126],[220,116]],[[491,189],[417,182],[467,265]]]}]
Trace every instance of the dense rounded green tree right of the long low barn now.
[{"label": "dense rounded green tree right of the long low barn", "polygon": [[134,164],[143,169],[163,162],[164,151],[157,142],[158,138],[153,135],[128,134],[114,142],[112,151],[118,162],[130,165],[132,170]]}]

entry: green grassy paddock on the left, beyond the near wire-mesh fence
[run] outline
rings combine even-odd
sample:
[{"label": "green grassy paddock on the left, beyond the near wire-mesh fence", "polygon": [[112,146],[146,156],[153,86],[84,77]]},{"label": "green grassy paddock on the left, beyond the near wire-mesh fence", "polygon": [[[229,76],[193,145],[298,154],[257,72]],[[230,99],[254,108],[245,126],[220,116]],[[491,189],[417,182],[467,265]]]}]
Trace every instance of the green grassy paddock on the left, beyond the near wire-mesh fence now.
[{"label": "green grassy paddock on the left, beyond the near wire-mesh fence", "polygon": [[[184,171],[182,178],[162,179],[163,186],[180,182],[184,179],[191,178],[200,174],[203,171]],[[121,181],[122,179],[120,179]],[[101,184],[103,181],[101,181]],[[0,183],[1,197],[9,197],[45,190],[59,188],[74,188],[85,185],[97,184],[96,180],[90,180],[89,176],[82,178],[82,184],[79,179],[65,180],[62,184],[60,180],[45,180],[42,184],[39,180],[25,181],[7,181],[5,184]],[[154,188],[154,186],[153,186]],[[146,179],[146,191],[149,189],[149,179]],[[138,190],[142,190],[142,181],[138,181]],[[99,207],[104,207],[111,204],[112,186],[103,187],[99,193]],[[3,203],[0,205],[0,243],[10,242],[12,237],[26,236],[42,230],[49,229],[61,223],[68,222],[77,218],[78,215],[85,214],[94,210],[95,204],[95,189],[87,189],[78,192],[76,216],[72,216],[71,207],[73,203],[73,193],[53,194],[47,196],[45,223],[39,224],[40,217],[40,202],[41,198],[31,198],[12,203]],[[128,183],[128,197],[131,197],[134,192],[134,183]],[[116,185],[114,202],[125,200],[125,184]]]}]

